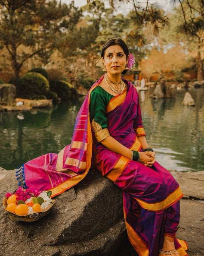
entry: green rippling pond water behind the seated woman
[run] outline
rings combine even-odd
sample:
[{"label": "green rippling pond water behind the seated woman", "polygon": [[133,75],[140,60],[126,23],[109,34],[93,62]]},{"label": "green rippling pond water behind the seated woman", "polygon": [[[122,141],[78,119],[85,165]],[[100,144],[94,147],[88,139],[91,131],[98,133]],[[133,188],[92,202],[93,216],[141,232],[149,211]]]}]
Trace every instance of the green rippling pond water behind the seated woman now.
[{"label": "green rippling pond water behind the seated woman", "polygon": [[[168,170],[204,171],[204,88],[189,92],[195,107],[182,105],[184,89],[176,98],[157,100],[148,91],[139,92],[148,144]],[[12,170],[70,144],[82,102],[62,102],[52,110],[0,112],[0,167]]]}]

